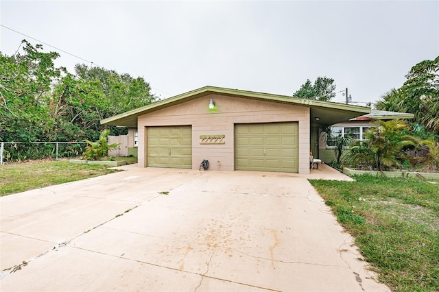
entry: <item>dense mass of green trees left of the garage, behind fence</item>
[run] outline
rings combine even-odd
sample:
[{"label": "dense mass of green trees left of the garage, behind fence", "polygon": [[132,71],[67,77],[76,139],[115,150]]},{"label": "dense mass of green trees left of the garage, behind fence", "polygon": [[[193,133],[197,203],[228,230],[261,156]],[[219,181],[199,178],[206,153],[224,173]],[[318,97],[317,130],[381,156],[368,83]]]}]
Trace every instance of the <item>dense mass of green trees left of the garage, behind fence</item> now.
[{"label": "dense mass of green trees left of the garage, behind fence", "polygon": [[2,141],[93,141],[104,129],[101,119],[155,99],[143,77],[84,64],[76,66],[75,75],[54,65],[58,53],[22,43],[22,50],[13,56],[0,52]]}]

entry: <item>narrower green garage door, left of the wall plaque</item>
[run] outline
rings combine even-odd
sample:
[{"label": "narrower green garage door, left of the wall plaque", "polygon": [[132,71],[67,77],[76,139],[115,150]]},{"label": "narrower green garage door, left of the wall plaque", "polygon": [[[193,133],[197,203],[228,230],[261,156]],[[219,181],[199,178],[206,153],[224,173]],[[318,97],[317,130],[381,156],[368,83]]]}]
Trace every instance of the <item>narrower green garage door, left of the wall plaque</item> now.
[{"label": "narrower green garage door, left of the wall plaque", "polygon": [[147,166],[192,168],[192,127],[147,127]]}]

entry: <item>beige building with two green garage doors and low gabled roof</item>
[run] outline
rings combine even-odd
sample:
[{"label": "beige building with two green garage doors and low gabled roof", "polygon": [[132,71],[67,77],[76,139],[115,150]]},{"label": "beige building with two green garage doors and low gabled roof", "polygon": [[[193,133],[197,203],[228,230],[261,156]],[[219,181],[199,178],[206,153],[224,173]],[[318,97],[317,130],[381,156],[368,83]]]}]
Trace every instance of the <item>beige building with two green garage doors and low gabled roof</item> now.
[{"label": "beige building with two green garage doors and low gabled roof", "polygon": [[[309,173],[318,134],[370,108],[206,86],[101,121],[129,128],[140,167]],[[137,129],[137,130],[136,130]]]}]

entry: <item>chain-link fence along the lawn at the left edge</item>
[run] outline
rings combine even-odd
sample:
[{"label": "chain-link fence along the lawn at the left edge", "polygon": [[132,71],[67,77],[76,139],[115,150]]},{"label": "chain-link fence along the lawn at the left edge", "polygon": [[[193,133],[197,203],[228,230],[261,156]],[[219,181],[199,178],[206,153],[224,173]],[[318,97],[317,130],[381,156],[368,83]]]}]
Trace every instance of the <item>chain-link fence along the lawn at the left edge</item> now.
[{"label": "chain-link fence along the lawn at the left edge", "polygon": [[0,142],[0,165],[27,159],[78,157],[86,147],[85,142]]}]

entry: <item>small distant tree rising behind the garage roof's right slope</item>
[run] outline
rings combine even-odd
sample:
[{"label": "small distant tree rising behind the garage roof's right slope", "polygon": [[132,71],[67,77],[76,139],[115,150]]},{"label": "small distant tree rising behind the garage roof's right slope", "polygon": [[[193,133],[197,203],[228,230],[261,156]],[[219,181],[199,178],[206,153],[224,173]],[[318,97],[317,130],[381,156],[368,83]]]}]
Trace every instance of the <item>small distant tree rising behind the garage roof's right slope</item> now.
[{"label": "small distant tree rising behind the garage roof's right slope", "polygon": [[294,93],[294,97],[305,99],[317,99],[321,101],[330,101],[335,97],[335,84],[332,78],[317,77],[314,84],[308,79],[305,84],[300,86],[299,90]]}]

